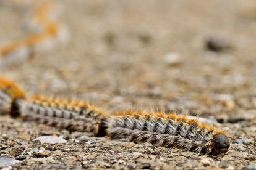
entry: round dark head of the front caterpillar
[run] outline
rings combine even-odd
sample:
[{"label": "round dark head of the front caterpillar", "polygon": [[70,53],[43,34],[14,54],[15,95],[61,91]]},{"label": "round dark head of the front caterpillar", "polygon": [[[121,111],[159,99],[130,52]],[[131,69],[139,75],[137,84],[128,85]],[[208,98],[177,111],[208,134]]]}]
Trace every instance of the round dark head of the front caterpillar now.
[{"label": "round dark head of the front caterpillar", "polygon": [[213,137],[211,144],[211,153],[219,154],[225,153],[230,147],[230,141],[225,134],[216,134]]}]

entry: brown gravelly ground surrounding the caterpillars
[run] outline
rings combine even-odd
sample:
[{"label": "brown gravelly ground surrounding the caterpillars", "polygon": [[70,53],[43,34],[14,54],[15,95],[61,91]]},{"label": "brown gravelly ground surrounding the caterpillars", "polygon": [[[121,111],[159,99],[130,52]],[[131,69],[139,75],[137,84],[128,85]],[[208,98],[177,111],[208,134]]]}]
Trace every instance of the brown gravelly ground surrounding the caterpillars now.
[{"label": "brown gravelly ground surrounding the caterpillars", "polygon": [[[0,46],[31,33],[28,20],[37,3],[0,1]],[[229,132],[231,148],[224,155],[200,155],[71,133],[3,115],[1,167],[256,169],[254,1],[56,4],[69,41],[1,67],[1,76],[21,84],[28,96],[89,100],[110,113],[164,109],[216,119]],[[35,140],[42,136],[58,136],[53,139],[62,143]]]}]

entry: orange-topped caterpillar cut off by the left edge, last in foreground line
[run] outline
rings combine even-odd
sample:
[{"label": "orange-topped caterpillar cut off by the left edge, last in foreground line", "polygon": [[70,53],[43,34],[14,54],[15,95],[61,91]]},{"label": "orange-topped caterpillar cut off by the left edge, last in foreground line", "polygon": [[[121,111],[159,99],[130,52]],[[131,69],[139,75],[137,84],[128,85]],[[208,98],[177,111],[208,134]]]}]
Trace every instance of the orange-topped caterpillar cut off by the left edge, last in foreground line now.
[{"label": "orange-topped caterpillar cut off by the left edge, last in foreground line", "polygon": [[25,100],[25,93],[12,81],[0,77],[0,114],[19,115],[18,103]]}]

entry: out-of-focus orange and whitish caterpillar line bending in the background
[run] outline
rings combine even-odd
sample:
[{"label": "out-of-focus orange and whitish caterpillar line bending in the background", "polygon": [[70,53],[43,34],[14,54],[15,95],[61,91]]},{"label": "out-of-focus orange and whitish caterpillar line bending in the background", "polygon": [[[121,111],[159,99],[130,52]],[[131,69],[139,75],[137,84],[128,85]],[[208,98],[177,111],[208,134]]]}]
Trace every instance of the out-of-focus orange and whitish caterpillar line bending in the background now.
[{"label": "out-of-focus orange and whitish caterpillar line bending in the background", "polygon": [[50,18],[50,13],[53,13],[52,6],[51,3],[44,2],[35,10],[32,25],[39,27],[40,33],[32,34],[0,49],[0,65],[27,59],[34,52],[49,49],[56,42],[66,41],[66,28]]}]

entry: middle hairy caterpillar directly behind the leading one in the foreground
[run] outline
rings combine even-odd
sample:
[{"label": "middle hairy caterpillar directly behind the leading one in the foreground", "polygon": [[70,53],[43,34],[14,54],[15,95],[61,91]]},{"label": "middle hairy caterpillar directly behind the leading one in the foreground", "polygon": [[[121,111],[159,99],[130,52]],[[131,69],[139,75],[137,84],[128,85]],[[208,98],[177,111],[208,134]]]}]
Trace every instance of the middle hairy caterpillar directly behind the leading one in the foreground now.
[{"label": "middle hairy caterpillar directly behind the leading one in the foreground", "polygon": [[100,121],[106,116],[104,111],[88,103],[70,100],[46,99],[32,97],[30,102],[20,104],[23,118],[45,123],[70,131],[90,132],[96,136]]}]

